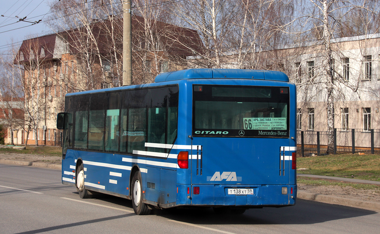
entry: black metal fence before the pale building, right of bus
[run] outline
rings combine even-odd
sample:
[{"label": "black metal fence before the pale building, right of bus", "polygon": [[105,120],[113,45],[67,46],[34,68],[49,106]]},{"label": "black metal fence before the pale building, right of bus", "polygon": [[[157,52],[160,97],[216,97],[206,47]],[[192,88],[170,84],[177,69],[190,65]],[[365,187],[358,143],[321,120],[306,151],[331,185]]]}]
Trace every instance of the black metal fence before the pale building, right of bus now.
[{"label": "black metal fence before the pale building, right of bus", "polygon": [[[297,131],[297,153],[302,156],[327,152],[328,132]],[[380,153],[380,129],[334,129],[334,154]]]}]

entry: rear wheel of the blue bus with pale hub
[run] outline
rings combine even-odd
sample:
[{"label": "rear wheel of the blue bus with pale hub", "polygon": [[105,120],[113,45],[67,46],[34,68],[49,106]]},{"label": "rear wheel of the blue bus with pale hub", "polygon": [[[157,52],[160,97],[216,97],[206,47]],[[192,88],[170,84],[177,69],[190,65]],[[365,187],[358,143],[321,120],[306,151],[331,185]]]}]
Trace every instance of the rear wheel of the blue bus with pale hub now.
[{"label": "rear wheel of the blue bus with pale hub", "polygon": [[136,215],[148,215],[150,213],[148,206],[142,202],[142,183],[139,171],[136,171],[132,178],[131,200]]}]

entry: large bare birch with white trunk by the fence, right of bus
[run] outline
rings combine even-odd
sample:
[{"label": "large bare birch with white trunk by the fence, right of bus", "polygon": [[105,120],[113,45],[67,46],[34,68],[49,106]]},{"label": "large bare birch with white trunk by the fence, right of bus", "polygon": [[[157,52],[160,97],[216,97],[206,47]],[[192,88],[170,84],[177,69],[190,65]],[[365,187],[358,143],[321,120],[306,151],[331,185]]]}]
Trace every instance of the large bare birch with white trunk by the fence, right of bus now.
[{"label": "large bare birch with white trunk by the fence, right of bus", "polygon": [[[294,44],[299,45],[299,49],[295,51],[298,53],[298,57],[303,56],[304,61],[308,63],[307,72],[302,78],[302,83],[299,84],[302,99],[306,102],[326,102],[329,132],[327,153],[334,151],[334,103],[345,96],[342,93],[344,91],[357,92],[359,86],[362,85],[361,80],[363,80],[363,73],[360,71],[357,72],[355,79],[351,77],[350,82],[347,82],[344,77],[336,75],[337,61],[339,64],[347,55],[345,56],[341,52],[345,48],[340,47],[339,41],[335,38],[342,35],[342,30],[355,31],[354,27],[350,29],[342,27],[342,25],[353,26],[346,22],[348,17],[355,12],[361,12],[368,16],[365,21],[362,21],[365,22],[363,28],[366,25],[373,25],[372,19],[378,12],[378,4],[375,4],[377,8],[369,8],[371,2],[373,1],[301,1],[297,4],[297,9],[300,11],[295,14],[296,17],[289,24],[291,27],[287,27],[285,30],[285,32],[295,35]],[[314,59],[318,61],[314,61]],[[310,96],[310,93],[313,95]]]}]

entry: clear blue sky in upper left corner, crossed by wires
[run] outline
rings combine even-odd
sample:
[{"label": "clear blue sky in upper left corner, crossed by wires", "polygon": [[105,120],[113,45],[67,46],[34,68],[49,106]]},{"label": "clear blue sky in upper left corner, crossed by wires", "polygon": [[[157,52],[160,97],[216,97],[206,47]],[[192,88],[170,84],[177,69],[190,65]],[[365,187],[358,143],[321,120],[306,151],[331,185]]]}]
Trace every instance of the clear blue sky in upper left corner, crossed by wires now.
[{"label": "clear blue sky in upper left corner, crossed by wires", "polygon": [[[49,0],[50,2],[58,0]],[[49,13],[48,0],[0,0],[0,53],[5,53],[9,49],[8,45],[13,42],[19,47],[28,36],[40,36],[51,33],[44,20]],[[23,19],[29,21],[19,21]],[[32,25],[39,21],[38,24]],[[29,26],[30,25],[30,26]],[[27,27],[25,27],[27,26]],[[6,32],[8,31],[8,32]]]}]

